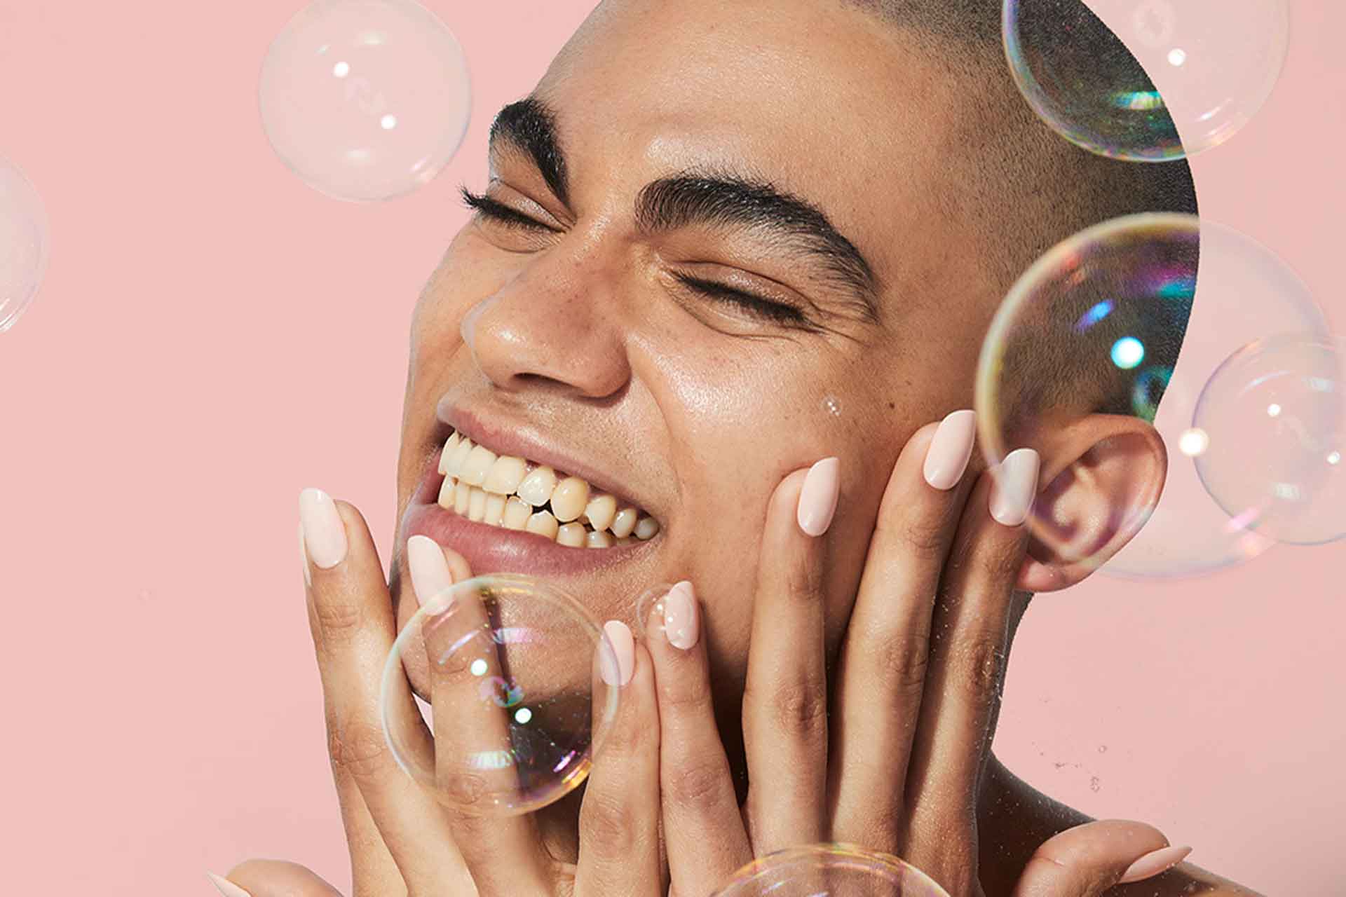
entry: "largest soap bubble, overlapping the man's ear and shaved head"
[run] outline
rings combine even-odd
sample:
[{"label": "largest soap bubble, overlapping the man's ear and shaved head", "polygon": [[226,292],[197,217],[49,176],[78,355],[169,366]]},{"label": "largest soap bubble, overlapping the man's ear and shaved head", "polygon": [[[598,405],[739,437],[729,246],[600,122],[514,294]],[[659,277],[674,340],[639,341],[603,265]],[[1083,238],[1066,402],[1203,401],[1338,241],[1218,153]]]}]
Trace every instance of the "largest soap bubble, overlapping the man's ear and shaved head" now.
[{"label": "largest soap bubble, overlapping the man's ear and shaved head", "polygon": [[[1191,576],[1273,545],[1202,484],[1193,459],[1213,436],[1194,432],[1193,416],[1232,352],[1294,332],[1330,332],[1304,284],[1265,246],[1194,215],[1113,219],[1038,260],[992,321],[976,407],[992,464],[1015,448],[1043,453],[1028,518],[1050,551],[1039,559],[1093,569],[1125,545],[1105,573]],[[1155,457],[1147,428],[1113,418],[1128,432],[1100,440],[1101,414],[1152,424],[1166,476],[1145,476],[1144,459]],[[1246,461],[1237,445],[1225,451],[1229,463]],[[1162,496],[1152,488],[1160,481]],[[1128,498],[1104,499],[1105,488]]]}]

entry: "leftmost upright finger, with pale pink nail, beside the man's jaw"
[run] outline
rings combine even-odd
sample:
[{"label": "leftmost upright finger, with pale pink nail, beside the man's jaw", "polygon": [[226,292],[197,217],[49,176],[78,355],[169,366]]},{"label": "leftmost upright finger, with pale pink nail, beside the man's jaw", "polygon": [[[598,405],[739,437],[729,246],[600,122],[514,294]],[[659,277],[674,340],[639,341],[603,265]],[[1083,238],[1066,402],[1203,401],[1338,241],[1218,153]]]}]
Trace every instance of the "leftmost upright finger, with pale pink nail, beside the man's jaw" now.
[{"label": "leftmost upright finger, with pale pink nail, beside the man's jaw", "polygon": [[[347,831],[355,828],[351,865],[361,893],[416,893],[463,889],[471,877],[454,843],[439,804],[397,764],[384,734],[380,687],[396,623],[369,527],[353,506],[324,492],[300,496],[304,545],[311,561],[308,619],[323,683],[328,752]],[[429,733],[405,676],[389,695],[389,728],[402,744],[424,749]],[[355,792],[355,793],[353,793]],[[357,796],[367,808],[378,838],[393,858],[388,869],[367,845],[363,815],[353,812]],[[396,878],[393,875],[397,875]]]}]

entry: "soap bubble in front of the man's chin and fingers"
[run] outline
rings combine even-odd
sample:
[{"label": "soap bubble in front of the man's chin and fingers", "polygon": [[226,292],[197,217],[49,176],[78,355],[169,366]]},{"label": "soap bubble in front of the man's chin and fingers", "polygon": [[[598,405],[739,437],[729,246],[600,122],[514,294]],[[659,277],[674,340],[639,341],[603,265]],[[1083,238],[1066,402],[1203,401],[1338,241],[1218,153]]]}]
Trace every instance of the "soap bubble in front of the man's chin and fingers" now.
[{"label": "soap bubble in front of the man's chin and fingers", "polygon": [[[432,596],[397,636],[380,713],[397,763],[441,804],[517,815],[588,776],[621,690],[616,659],[573,598],[526,576],[490,574]],[[409,713],[408,679],[429,732]]]}]

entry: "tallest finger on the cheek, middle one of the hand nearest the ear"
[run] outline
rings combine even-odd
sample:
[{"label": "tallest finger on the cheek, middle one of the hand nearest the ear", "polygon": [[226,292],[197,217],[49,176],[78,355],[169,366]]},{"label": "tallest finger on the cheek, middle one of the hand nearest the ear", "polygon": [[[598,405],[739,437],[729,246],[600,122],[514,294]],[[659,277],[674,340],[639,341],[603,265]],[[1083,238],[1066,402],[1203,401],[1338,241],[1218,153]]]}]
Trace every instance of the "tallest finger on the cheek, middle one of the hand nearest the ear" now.
[{"label": "tallest finger on the cheek, middle one of the hand nearest the ear", "polygon": [[836,841],[898,850],[930,617],[970,488],[975,433],[972,412],[917,430],[884,490],[837,663],[828,764]]}]

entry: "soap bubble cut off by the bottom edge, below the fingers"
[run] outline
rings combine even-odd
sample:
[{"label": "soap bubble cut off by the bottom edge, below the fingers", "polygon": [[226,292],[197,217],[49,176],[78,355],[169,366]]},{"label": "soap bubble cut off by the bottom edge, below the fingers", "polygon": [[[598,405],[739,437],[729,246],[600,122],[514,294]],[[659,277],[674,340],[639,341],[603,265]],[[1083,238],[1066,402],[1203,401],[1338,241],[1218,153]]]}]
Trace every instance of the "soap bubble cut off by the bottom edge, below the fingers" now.
[{"label": "soap bubble cut off by the bottom edge, below the fingers", "polygon": [[711,897],[948,897],[896,857],[852,845],[790,847],[754,859]]}]

